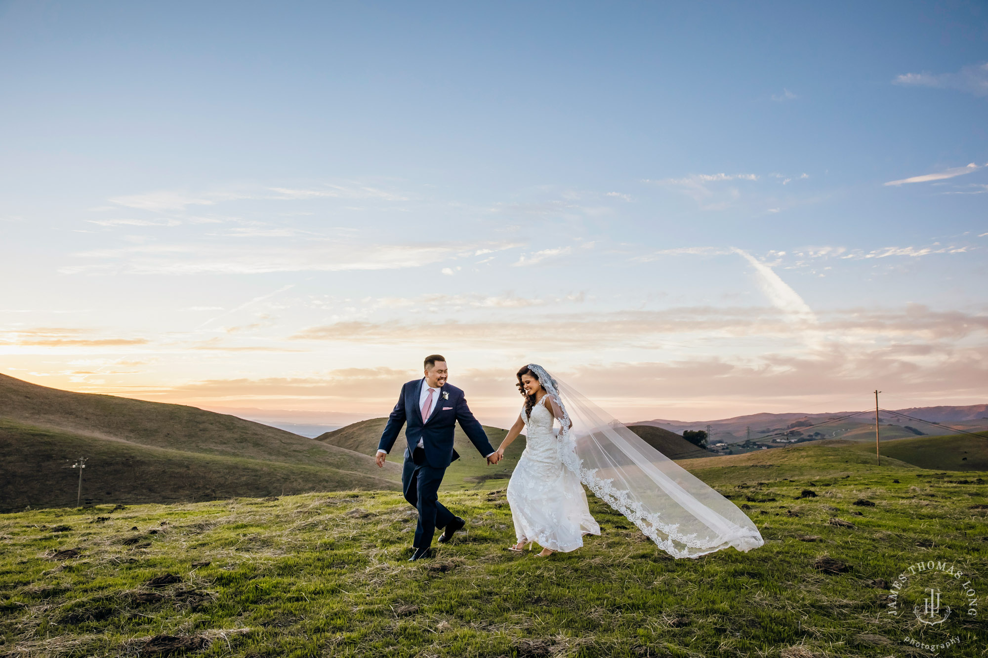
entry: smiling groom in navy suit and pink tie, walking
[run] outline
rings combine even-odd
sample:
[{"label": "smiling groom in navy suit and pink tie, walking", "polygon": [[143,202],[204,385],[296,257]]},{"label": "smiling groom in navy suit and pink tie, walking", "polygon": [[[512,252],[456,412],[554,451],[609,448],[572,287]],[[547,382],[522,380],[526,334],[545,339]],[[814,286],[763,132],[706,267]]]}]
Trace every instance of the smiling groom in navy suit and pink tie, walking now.
[{"label": "smiling groom in navy suit and pink tie, walking", "polygon": [[465,523],[439,502],[443,474],[453,459],[459,458],[453,450],[455,422],[459,422],[470,443],[487,457],[487,463],[500,460],[487,441],[483,427],[466,406],[463,391],[446,382],[450,375],[446,358],[438,354],[430,355],[424,365],[425,377],[409,381],[401,387],[398,403],[394,405],[380,435],[376,457],[377,466],[383,467],[401,426],[407,422],[401,488],[405,500],[419,511],[419,523],[412,544],[414,550],[409,562],[429,555],[437,528],[446,529],[439,537],[439,542],[445,543]]}]

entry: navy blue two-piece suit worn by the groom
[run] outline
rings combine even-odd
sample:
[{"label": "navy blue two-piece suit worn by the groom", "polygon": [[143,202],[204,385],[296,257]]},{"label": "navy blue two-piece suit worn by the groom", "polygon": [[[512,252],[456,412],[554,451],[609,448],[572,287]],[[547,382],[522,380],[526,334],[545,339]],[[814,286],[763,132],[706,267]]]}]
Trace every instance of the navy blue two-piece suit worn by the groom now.
[{"label": "navy blue two-piece suit worn by the groom", "polygon": [[[432,545],[436,529],[446,528],[453,521],[453,513],[439,502],[439,485],[443,482],[447,467],[453,459],[459,458],[453,449],[455,424],[459,423],[467,439],[481,455],[494,452],[480,422],[466,406],[463,391],[451,384],[440,388],[432,414],[423,419],[419,406],[423,383],[423,379],[415,379],[401,387],[398,402],[387,419],[377,445],[377,450],[391,452],[401,426],[408,424],[405,429],[401,488],[405,500],[419,511],[413,543],[416,548],[428,548]],[[419,439],[422,439],[423,448],[418,448]]]}]

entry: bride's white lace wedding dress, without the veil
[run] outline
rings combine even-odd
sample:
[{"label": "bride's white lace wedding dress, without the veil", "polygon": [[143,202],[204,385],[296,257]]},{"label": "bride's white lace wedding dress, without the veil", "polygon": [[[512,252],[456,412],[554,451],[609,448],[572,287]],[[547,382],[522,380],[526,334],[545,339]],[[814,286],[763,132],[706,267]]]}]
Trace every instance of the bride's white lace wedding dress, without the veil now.
[{"label": "bride's white lace wedding dress, without the veil", "polygon": [[580,476],[563,463],[560,451],[567,444],[552,430],[548,397],[535,403],[530,418],[522,409],[526,447],[508,482],[508,504],[520,542],[565,553],[582,546],[583,535],[600,535],[601,527],[590,514]]}]

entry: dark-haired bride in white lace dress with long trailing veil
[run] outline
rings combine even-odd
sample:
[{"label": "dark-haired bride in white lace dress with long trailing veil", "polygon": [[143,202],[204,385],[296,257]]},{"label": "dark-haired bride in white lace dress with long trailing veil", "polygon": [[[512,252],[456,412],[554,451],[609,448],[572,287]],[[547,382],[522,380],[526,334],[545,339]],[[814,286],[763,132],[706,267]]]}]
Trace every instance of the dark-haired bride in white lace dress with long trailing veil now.
[{"label": "dark-haired bride in white lace dress with long trailing veil", "polygon": [[497,450],[503,457],[526,430],[508,482],[518,539],[512,550],[537,542],[546,557],[600,535],[581,482],[674,557],[765,543],[736,505],[540,366],[519,370],[517,385],[525,405]]}]

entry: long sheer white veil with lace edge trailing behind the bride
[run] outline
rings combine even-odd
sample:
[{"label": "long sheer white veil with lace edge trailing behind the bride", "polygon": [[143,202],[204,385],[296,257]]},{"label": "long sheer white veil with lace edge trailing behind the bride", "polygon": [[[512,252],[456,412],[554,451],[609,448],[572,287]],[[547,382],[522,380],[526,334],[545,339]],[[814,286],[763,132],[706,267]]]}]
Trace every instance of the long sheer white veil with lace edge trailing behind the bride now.
[{"label": "long sheer white veil with lace edge trailing behind the bride", "polygon": [[599,498],[674,557],[699,557],[765,543],[734,503],[642,441],[607,412],[529,364],[562,409],[558,440],[566,466]]}]

